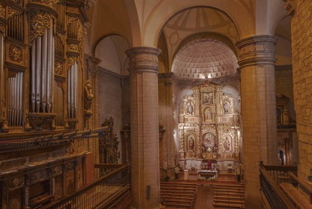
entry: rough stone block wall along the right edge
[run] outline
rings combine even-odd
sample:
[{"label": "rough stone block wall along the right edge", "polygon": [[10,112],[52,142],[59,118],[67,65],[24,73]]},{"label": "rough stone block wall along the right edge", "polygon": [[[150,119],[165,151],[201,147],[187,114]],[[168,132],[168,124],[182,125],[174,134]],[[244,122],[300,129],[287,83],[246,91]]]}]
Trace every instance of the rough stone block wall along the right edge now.
[{"label": "rough stone block wall along the right edge", "polygon": [[295,1],[292,17],[292,72],[299,140],[299,178],[312,169],[312,1]]}]

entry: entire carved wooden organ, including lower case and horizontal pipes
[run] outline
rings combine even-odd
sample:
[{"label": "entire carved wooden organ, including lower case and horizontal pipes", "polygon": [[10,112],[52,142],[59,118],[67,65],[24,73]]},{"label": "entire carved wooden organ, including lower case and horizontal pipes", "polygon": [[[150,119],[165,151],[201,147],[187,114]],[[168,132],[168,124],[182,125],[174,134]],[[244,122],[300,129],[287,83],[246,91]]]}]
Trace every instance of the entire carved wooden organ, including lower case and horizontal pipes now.
[{"label": "entire carved wooden organ, including lower case and horizontal pipes", "polygon": [[88,183],[84,139],[98,135],[76,136],[93,114],[88,2],[0,1],[0,208],[36,208]]}]

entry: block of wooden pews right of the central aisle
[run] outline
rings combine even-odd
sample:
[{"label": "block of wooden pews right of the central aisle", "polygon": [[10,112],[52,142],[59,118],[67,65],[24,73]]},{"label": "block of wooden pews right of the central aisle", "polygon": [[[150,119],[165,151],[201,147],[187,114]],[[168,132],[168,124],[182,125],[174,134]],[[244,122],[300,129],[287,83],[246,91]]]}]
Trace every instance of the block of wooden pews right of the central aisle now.
[{"label": "block of wooden pews right of the central aisle", "polygon": [[244,184],[215,185],[212,205],[214,208],[245,208]]}]

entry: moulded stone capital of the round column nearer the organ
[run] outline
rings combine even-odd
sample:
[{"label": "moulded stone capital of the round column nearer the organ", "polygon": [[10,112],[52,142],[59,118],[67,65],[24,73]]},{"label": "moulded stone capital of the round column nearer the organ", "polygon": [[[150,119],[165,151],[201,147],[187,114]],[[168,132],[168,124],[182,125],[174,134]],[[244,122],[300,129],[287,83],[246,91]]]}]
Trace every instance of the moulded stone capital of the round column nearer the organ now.
[{"label": "moulded stone capital of the round column nearer the organ", "polygon": [[129,56],[129,71],[132,72],[158,72],[158,56],[161,49],[153,47],[134,47],[127,49]]}]

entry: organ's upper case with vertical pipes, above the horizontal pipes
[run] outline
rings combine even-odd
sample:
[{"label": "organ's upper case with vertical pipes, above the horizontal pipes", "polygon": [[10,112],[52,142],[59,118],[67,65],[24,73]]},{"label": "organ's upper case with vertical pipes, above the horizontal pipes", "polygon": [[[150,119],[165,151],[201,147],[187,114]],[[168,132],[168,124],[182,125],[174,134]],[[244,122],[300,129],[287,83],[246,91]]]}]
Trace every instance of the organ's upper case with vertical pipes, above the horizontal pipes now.
[{"label": "organ's upper case with vertical pipes, above the horizontal pipes", "polygon": [[0,1],[0,132],[84,128],[84,10],[84,1]]}]

